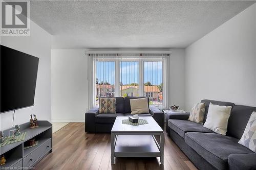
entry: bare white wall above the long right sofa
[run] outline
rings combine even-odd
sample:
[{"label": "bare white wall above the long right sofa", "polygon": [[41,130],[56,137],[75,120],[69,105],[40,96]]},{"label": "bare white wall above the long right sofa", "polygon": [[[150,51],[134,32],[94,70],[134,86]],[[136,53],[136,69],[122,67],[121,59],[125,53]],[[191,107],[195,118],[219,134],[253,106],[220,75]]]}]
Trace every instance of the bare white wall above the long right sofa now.
[{"label": "bare white wall above the long right sofa", "polygon": [[256,106],[255,4],[186,48],[185,105],[202,99]]}]

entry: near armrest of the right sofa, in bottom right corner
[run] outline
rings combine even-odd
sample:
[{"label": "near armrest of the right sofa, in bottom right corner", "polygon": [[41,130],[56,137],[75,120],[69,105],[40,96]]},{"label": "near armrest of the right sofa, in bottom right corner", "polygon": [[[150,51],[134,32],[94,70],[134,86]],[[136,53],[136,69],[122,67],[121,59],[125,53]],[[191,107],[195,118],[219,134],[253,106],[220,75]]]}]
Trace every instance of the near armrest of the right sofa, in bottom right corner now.
[{"label": "near armrest of the right sofa, in bottom right corner", "polygon": [[229,169],[256,169],[256,153],[231,154],[228,156]]}]

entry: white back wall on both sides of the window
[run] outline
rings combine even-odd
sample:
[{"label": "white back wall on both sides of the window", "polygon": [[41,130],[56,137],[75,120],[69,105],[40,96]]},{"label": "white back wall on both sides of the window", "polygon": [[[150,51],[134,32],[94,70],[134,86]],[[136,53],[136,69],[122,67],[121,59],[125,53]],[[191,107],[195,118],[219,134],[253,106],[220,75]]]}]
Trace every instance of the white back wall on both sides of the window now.
[{"label": "white back wall on both sides of the window", "polygon": [[[88,108],[85,49],[52,50],[52,122],[83,122]],[[184,108],[184,49],[172,49],[171,101]]]}]

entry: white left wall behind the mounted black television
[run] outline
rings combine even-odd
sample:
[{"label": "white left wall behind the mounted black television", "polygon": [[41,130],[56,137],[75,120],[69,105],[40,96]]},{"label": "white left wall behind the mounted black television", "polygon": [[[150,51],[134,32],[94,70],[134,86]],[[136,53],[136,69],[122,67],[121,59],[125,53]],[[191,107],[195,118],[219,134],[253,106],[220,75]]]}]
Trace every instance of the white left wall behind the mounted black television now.
[{"label": "white left wall behind the mounted black television", "polygon": [[[51,35],[30,21],[30,36],[2,36],[1,44],[39,58],[34,106],[15,111],[15,124],[38,120],[51,121]],[[13,111],[0,114],[1,130],[12,127]]]}]

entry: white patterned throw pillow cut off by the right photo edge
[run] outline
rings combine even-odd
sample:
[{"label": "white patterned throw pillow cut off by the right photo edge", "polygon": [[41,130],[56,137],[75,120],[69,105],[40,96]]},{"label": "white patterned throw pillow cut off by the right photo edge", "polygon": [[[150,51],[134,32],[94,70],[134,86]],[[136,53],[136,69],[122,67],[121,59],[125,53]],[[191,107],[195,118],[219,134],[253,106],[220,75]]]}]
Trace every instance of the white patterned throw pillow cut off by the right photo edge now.
[{"label": "white patterned throw pillow cut off by the right photo edge", "polygon": [[256,112],[252,112],[244,130],[244,134],[238,143],[256,152]]}]

